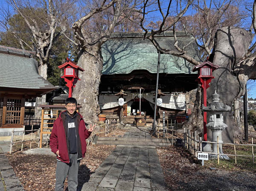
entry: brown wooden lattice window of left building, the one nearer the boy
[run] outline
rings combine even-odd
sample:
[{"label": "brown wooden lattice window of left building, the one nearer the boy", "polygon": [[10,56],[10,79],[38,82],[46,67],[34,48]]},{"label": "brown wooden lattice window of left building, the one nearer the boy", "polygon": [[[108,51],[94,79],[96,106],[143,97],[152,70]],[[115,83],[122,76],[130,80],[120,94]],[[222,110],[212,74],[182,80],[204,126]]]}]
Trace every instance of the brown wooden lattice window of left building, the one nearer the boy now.
[{"label": "brown wooden lattice window of left building, the one nearer the boy", "polygon": [[6,124],[20,124],[21,99],[7,99]]}]

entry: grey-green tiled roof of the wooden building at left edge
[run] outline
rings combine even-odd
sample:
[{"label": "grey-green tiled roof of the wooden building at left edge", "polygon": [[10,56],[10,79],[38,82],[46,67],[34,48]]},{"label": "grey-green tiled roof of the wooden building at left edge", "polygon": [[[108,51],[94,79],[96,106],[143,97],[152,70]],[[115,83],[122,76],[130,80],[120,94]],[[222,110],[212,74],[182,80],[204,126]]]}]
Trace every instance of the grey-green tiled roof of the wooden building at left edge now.
[{"label": "grey-green tiled roof of the wooden building at left edge", "polygon": [[0,87],[55,89],[38,74],[35,59],[3,52],[0,52]]}]

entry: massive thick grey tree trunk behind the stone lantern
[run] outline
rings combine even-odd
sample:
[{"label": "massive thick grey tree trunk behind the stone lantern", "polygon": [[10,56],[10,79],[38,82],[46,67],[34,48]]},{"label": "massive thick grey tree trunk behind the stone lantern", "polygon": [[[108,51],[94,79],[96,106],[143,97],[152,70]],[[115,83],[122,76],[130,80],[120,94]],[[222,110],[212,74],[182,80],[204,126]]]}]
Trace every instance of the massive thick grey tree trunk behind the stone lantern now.
[{"label": "massive thick grey tree trunk behind the stone lantern", "polygon": [[[211,95],[215,90],[220,95],[220,101],[231,107],[233,101],[242,96],[243,91],[241,90],[244,89],[248,77],[244,75],[243,78],[239,78],[239,75],[234,73],[234,68],[236,63],[247,53],[250,42],[251,36],[244,29],[224,27],[217,31],[212,63],[218,65],[219,68],[213,72],[215,78],[212,79],[210,87],[207,89],[208,102],[212,101]],[[208,120],[209,116],[207,115]],[[222,133],[223,142],[233,142],[233,138],[242,141],[242,129],[236,125],[232,111],[224,112],[224,123],[228,127]],[[208,130],[207,134],[211,140],[211,131]]]}]

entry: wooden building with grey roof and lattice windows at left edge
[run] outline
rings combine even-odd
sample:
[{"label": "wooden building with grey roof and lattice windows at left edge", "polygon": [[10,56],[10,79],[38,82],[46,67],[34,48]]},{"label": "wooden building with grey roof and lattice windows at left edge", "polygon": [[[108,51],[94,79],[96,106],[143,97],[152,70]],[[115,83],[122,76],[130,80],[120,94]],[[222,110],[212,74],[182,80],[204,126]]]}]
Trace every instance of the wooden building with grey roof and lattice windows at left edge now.
[{"label": "wooden building with grey roof and lattice windows at left edge", "polygon": [[38,74],[35,52],[0,46],[0,135],[10,135],[6,128],[21,128],[25,99],[41,97],[55,89]]}]

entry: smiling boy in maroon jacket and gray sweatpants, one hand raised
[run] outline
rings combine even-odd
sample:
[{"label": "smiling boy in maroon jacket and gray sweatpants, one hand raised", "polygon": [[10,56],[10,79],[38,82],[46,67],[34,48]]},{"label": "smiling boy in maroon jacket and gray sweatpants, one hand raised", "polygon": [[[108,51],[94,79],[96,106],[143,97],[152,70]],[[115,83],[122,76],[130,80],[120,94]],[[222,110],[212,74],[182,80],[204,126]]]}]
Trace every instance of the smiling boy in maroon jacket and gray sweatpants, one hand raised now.
[{"label": "smiling boy in maroon jacket and gray sweatpants, one hand raised", "polygon": [[73,97],[65,101],[66,111],[55,120],[50,137],[50,146],[57,155],[55,191],[63,191],[68,176],[68,190],[76,191],[78,186],[78,168],[86,152],[86,139],[90,137],[95,125],[86,129],[86,123],[78,112]]}]

